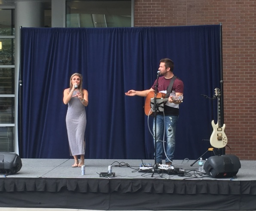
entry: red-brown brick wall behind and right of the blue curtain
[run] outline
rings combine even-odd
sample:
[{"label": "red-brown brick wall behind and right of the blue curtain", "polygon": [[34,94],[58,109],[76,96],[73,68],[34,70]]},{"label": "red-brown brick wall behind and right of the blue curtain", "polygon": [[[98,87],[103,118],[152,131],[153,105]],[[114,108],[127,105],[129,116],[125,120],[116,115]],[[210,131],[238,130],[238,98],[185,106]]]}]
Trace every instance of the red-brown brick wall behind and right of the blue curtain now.
[{"label": "red-brown brick wall behind and right of the blue curtain", "polygon": [[135,27],[219,23],[226,154],[256,160],[256,1],[134,0]]}]

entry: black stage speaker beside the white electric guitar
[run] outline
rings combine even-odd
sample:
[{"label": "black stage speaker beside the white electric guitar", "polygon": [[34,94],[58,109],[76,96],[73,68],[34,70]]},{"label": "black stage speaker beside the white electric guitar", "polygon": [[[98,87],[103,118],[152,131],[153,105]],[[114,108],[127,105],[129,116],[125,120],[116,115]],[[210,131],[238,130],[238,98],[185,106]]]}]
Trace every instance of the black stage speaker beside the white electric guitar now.
[{"label": "black stage speaker beside the white electric guitar", "polygon": [[213,178],[234,177],[241,168],[241,163],[235,155],[216,155],[204,163],[205,172]]}]

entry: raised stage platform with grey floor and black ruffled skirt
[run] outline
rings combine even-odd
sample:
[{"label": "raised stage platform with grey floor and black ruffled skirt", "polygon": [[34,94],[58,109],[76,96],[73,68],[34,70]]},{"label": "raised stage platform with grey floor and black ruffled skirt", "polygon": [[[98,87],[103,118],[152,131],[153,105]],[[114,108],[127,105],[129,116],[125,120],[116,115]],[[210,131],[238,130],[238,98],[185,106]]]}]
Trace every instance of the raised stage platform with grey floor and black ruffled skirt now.
[{"label": "raised stage platform with grey floor and black ruffled skirt", "polygon": [[[139,172],[142,160],[21,159],[12,175],[0,175],[0,207],[88,210],[256,210],[256,161],[240,160],[235,178],[198,172],[195,160],[174,160],[173,171]],[[154,160],[143,160],[154,164]],[[164,162],[163,162],[164,163]],[[112,165],[115,177],[100,177]],[[18,199],[18,200],[17,200]],[[1,208],[0,208],[1,210]]]}]

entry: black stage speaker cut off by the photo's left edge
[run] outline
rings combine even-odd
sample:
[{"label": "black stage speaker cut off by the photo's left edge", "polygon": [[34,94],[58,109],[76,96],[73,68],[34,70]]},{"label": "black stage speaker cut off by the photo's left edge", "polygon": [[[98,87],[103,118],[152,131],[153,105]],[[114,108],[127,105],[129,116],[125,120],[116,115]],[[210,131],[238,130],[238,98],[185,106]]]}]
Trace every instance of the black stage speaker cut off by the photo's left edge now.
[{"label": "black stage speaker cut off by the photo's left edge", "polygon": [[21,167],[21,158],[17,154],[0,152],[0,174],[15,174]]}]

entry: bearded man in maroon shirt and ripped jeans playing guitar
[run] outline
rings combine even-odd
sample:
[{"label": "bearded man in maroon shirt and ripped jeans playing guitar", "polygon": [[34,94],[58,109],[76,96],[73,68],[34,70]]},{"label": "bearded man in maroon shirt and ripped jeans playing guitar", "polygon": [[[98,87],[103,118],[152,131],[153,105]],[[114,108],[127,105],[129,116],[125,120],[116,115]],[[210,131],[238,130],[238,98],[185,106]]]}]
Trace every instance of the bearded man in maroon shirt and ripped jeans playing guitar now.
[{"label": "bearded man in maroon shirt and ripped jeans playing guitar", "polygon": [[[150,111],[146,112],[146,107],[150,106],[150,99],[153,98],[155,95],[154,93],[158,81],[157,92],[161,93],[162,97],[166,94],[167,102],[164,104],[164,113],[159,112],[156,116],[156,136],[155,119],[153,122],[154,139],[156,137],[156,162],[158,164],[162,164],[162,154],[164,152],[163,137],[165,131],[165,135],[167,138],[167,158],[165,158],[165,164],[170,166],[174,158],[176,125],[179,118],[179,104],[183,100],[184,85],[182,80],[174,76],[174,62],[171,59],[161,59],[158,70],[158,73],[162,76],[159,77],[158,80],[155,80],[155,83],[150,89],[146,89],[143,91],[135,91],[131,89],[126,92],[125,95],[138,95],[146,97],[146,102],[147,98],[149,98],[149,105],[146,105],[145,103],[145,113],[146,115],[150,115]],[[170,88],[168,89],[168,86],[171,84],[172,86],[170,86]]]}]

